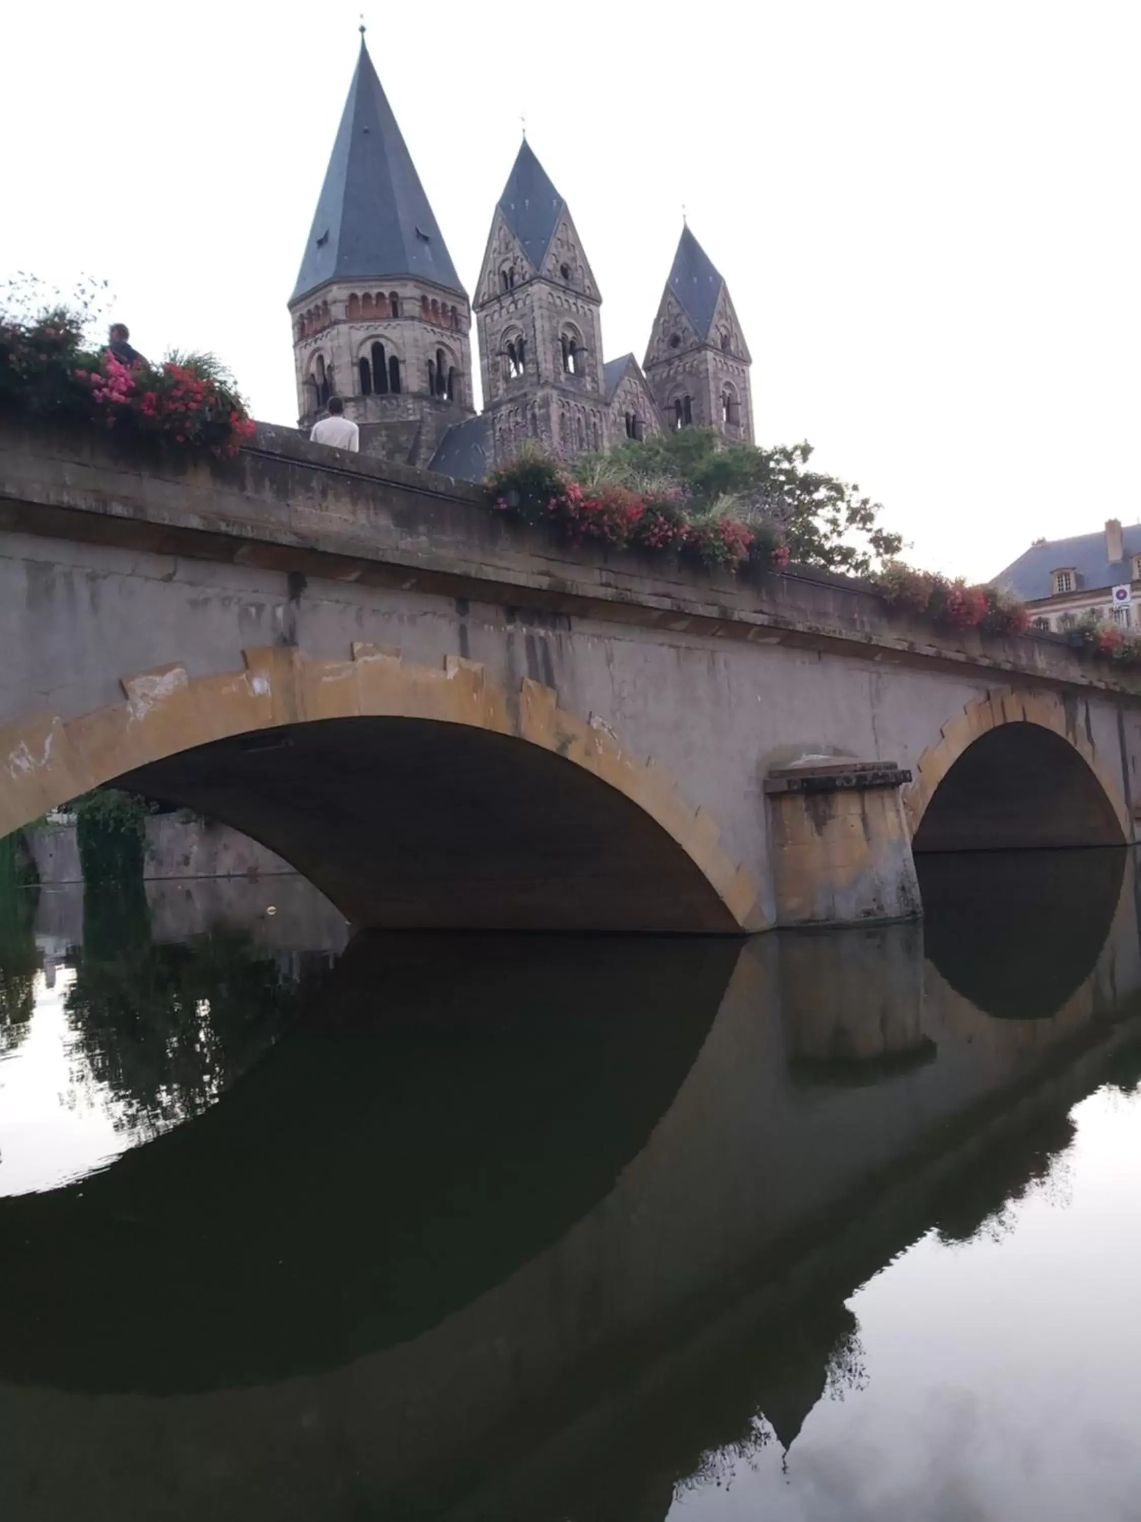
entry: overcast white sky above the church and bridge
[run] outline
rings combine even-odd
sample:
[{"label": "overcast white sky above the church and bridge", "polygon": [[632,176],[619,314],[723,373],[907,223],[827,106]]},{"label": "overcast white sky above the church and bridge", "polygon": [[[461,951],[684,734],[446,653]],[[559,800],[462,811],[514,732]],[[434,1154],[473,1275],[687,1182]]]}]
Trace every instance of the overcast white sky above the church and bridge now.
[{"label": "overcast white sky above the church and bridge", "polygon": [[[286,300],[362,0],[55,0],[0,23],[0,279],[105,277],[137,345],[211,349],[295,422]],[[469,291],[519,117],[645,352],[680,207],[809,438],[908,559],[989,577],[1141,517],[1141,6],[365,0]]]}]

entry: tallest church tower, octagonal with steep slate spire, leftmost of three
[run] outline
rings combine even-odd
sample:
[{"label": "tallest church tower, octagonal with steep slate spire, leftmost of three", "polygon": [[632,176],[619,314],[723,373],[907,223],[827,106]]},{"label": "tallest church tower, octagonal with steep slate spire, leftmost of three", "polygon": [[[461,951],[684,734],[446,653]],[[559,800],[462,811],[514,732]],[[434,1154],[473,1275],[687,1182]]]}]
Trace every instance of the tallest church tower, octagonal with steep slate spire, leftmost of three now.
[{"label": "tallest church tower, octagonal with steep slate spire, leftmost of three", "polygon": [[472,309],[364,27],[289,315],[301,428],[336,393],[362,452],[423,466],[473,414]]}]

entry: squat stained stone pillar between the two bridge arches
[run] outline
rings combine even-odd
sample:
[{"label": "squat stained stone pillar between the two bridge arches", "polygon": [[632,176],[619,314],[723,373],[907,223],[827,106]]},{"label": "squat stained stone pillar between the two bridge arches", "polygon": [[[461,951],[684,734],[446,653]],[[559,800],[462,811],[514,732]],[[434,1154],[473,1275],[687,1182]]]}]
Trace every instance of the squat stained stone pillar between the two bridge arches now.
[{"label": "squat stained stone pillar between the two bridge arches", "polygon": [[922,913],[895,761],[805,756],[765,778],[779,925]]}]

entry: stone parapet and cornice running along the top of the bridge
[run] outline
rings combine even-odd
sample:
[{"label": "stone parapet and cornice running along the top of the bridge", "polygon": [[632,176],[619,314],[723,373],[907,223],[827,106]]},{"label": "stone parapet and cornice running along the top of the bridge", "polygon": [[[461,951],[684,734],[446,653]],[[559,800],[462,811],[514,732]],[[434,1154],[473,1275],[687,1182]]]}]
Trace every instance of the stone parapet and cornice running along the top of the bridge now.
[{"label": "stone parapet and cornice running along the top of the bridge", "polygon": [[945,635],[890,613],[864,583],[806,568],[745,583],[570,546],[491,516],[469,482],[268,425],[236,460],[213,460],[0,422],[5,530],[1141,699],[1136,674],[1057,639]]}]

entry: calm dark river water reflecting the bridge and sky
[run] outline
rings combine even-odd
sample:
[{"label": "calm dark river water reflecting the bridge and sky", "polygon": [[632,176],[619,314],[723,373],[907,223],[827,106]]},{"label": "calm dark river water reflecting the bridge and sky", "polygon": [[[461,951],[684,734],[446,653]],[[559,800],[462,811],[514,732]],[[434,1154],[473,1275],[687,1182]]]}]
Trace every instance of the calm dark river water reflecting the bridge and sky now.
[{"label": "calm dark river water reflecting the bridge and sky", "polygon": [[1141,1519],[1129,852],[926,919],[8,893],[0,1516]]}]

